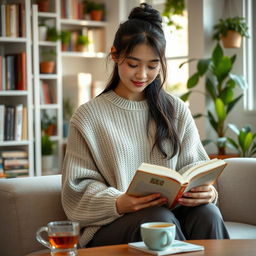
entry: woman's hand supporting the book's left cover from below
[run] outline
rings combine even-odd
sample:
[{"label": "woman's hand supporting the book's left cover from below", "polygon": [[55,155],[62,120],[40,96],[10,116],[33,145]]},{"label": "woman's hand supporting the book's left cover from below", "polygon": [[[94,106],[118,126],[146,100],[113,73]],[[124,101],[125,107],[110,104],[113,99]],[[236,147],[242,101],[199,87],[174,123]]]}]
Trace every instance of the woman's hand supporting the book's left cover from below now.
[{"label": "woman's hand supporting the book's left cover from below", "polygon": [[167,199],[160,194],[151,194],[148,196],[129,196],[122,194],[116,199],[116,208],[119,214],[136,212],[143,208],[151,206],[161,206],[167,202]]}]

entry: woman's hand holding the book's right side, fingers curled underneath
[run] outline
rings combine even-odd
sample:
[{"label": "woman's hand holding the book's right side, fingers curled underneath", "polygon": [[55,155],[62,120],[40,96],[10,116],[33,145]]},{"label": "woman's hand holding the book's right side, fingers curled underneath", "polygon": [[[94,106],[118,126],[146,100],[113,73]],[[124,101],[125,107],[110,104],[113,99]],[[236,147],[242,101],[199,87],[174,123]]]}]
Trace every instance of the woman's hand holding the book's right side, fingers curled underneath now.
[{"label": "woman's hand holding the book's right side, fingers curled underneath", "polygon": [[198,186],[186,192],[180,199],[183,206],[198,206],[211,203],[215,198],[212,185]]}]

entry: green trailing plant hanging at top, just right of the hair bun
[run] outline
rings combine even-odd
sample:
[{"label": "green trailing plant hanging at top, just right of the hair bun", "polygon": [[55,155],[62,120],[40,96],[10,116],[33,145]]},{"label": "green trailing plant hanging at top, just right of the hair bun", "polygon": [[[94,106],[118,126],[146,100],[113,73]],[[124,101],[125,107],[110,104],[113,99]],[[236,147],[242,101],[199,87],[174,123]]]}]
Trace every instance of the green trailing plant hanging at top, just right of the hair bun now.
[{"label": "green trailing plant hanging at top, just right of the hair bun", "polygon": [[167,18],[168,25],[181,29],[181,25],[173,20],[173,15],[183,16],[185,10],[185,0],[166,0],[162,15]]}]

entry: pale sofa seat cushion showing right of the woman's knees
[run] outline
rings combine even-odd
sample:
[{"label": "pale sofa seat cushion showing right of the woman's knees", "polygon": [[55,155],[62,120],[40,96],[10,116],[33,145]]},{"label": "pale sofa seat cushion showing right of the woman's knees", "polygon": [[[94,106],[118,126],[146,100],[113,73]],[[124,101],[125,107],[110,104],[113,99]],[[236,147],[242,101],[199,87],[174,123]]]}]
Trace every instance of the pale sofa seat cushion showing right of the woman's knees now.
[{"label": "pale sofa seat cushion showing right of the woman's knees", "polygon": [[256,226],[225,221],[231,239],[256,239]]}]

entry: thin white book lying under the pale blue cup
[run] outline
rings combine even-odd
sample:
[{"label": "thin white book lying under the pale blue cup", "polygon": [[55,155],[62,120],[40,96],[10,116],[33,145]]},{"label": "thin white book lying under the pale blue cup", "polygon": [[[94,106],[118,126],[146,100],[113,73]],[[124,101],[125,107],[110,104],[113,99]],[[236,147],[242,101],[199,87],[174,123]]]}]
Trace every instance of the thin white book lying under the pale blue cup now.
[{"label": "thin white book lying under the pale blue cup", "polygon": [[147,248],[147,246],[144,244],[144,242],[134,242],[129,243],[128,246],[130,248],[147,252],[149,254],[153,255],[171,255],[181,252],[194,252],[194,251],[203,251],[204,246],[187,243],[183,241],[174,240],[172,246],[164,251],[154,251]]}]

